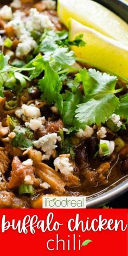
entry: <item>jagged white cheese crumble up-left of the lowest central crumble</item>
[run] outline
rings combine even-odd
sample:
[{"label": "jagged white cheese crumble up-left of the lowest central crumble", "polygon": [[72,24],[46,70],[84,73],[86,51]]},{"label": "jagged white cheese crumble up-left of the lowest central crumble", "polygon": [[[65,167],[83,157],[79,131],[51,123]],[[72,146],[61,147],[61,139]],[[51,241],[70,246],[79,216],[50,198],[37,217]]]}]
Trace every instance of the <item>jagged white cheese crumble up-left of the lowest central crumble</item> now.
[{"label": "jagged white cheese crumble up-left of the lowest central crumble", "polygon": [[50,159],[50,156],[53,153],[53,150],[57,148],[56,142],[60,141],[60,136],[57,136],[57,133],[48,133],[47,135],[44,135],[39,140],[35,140],[34,146],[37,149],[40,149],[45,153],[42,156],[42,160],[44,159]]}]

